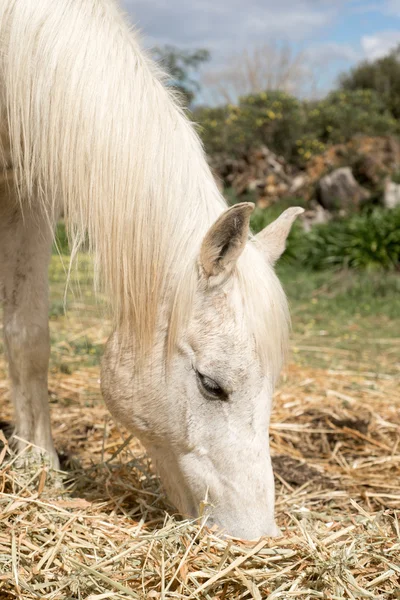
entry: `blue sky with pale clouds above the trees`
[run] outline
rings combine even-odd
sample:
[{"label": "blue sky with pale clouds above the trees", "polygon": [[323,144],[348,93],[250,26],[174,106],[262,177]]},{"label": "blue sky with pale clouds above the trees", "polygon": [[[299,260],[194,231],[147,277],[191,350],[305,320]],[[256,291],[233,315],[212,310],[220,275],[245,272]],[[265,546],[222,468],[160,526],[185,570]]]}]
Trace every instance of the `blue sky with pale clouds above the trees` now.
[{"label": "blue sky with pale clouds above the trees", "polygon": [[302,50],[319,94],[358,61],[400,43],[400,0],[123,0],[148,46],[208,48],[220,69],[254,44]]}]

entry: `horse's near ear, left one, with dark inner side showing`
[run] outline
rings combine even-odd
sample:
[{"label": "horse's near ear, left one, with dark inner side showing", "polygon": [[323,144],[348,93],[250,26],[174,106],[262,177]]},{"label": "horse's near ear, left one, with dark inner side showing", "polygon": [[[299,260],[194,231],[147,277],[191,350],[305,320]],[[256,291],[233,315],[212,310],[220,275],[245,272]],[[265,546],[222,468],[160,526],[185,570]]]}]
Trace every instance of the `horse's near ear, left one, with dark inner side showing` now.
[{"label": "horse's near ear, left one, with dark inner side showing", "polygon": [[210,227],[200,249],[200,267],[206,279],[221,276],[220,282],[233,271],[249,237],[253,210],[250,202],[235,204]]}]

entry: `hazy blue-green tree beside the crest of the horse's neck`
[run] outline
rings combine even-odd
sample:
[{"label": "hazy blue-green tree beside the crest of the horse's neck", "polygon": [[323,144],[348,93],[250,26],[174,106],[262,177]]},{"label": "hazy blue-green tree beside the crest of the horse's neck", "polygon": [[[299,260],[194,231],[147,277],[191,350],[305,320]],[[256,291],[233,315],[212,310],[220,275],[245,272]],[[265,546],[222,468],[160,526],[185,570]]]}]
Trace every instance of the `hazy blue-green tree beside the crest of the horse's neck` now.
[{"label": "hazy blue-green tree beside the crest of the horse's neck", "polygon": [[167,45],[154,48],[152,55],[167,72],[168,84],[181,94],[185,104],[190,105],[200,90],[196,74],[201,65],[210,60],[208,50],[182,50]]}]

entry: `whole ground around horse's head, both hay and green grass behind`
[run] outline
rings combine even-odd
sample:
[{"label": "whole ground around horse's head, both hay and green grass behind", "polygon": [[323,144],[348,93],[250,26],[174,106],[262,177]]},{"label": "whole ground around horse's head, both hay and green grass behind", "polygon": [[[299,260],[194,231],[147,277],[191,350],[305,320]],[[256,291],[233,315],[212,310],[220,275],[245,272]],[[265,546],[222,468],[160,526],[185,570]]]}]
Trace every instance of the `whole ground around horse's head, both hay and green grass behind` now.
[{"label": "whole ground around horse's head, both hay and green grass behind", "polygon": [[[67,482],[60,495],[44,466],[25,477],[0,454],[0,598],[400,598],[399,276],[279,268],[293,318],[271,425],[284,537],[246,545],[166,516],[143,449],[121,449],[98,384],[110,323],[80,265],[66,314],[58,256],[50,267]],[[7,419],[1,358],[0,376]]]}]

